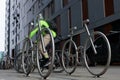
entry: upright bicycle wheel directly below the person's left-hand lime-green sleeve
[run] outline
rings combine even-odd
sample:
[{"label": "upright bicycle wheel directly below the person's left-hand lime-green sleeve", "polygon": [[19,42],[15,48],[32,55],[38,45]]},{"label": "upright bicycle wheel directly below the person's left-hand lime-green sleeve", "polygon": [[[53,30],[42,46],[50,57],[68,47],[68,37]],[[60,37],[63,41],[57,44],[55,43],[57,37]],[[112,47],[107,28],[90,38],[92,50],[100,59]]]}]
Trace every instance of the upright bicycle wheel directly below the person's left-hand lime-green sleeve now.
[{"label": "upright bicycle wheel directly below the person's left-hand lime-green sleeve", "polygon": [[31,72],[31,69],[33,67],[32,65],[32,44],[29,38],[26,38],[23,44],[22,49],[22,67],[23,71],[28,76]]}]

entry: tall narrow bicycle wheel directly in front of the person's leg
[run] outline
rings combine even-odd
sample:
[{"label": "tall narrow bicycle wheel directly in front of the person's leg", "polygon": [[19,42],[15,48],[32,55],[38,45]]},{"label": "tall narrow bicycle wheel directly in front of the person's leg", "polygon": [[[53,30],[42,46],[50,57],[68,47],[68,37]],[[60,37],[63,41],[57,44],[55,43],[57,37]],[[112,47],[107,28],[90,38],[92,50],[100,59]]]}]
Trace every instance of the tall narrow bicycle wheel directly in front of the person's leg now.
[{"label": "tall narrow bicycle wheel directly in front of the person's leg", "polygon": [[54,39],[53,39],[52,33],[49,28],[42,28],[40,33],[47,33],[50,37],[50,40],[49,40],[50,42],[47,45],[45,45],[46,44],[44,42],[45,38],[43,38],[43,44],[45,45],[45,51],[49,55],[49,62],[50,62],[50,64],[47,67],[42,66],[42,62],[41,62],[41,60],[43,59],[43,55],[41,54],[41,51],[40,51],[40,44],[41,44],[41,36],[42,37],[44,36],[39,34],[39,38],[38,38],[39,40],[38,40],[38,50],[37,50],[37,67],[38,67],[39,74],[44,79],[46,79],[53,70],[55,46],[54,46]]}]

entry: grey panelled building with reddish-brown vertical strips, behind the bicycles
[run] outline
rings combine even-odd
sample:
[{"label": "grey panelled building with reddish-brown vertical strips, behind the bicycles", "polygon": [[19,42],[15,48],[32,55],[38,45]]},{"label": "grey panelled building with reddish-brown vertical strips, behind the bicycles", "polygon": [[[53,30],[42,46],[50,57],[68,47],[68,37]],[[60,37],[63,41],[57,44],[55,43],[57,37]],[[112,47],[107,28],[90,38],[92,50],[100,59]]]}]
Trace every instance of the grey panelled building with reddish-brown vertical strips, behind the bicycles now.
[{"label": "grey panelled building with reddish-brown vertical strips, behind the bicycles", "polygon": [[57,34],[66,38],[69,29],[77,26],[74,31],[77,45],[82,45],[86,38],[84,33],[78,33],[83,29],[85,19],[89,18],[91,31],[109,34],[111,30],[120,30],[119,4],[120,0],[6,0],[9,16],[6,18],[6,53],[14,57],[15,52],[21,52],[24,38],[34,28],[30,27],[30,22],[36,21],[39,13],[45,19],[53,20]]}]

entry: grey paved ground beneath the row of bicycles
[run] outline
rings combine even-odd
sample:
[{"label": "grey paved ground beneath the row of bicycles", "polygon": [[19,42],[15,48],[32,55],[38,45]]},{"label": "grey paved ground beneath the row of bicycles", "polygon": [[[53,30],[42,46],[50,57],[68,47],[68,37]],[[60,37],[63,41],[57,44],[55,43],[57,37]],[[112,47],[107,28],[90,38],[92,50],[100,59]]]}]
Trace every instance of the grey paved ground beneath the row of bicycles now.
[{"label": "grey paved ground beneath the row of bicycles", "polygon": [[[0,80],[42,80],[37,70],[25,77],[15,70],[0,70]],[[77,68],[71,76],[63,73],[52,73],[47,80],[120,80],[120,66],[111,66],[100,78],[94,78],[85,68]]]}]

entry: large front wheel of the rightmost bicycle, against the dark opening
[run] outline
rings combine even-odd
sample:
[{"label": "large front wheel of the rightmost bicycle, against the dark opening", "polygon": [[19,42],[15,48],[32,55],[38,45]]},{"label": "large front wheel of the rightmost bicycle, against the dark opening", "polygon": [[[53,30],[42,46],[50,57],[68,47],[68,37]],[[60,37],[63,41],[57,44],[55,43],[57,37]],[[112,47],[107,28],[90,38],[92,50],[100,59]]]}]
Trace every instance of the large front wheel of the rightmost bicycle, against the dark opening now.
[{"label": "large front wheel of the rightmost bicycle, against the dark opening", "polygon": [[111,47],[107,37],[102,32],[93,32],[91,38],[97,53],[94,53],[90,39],[87,39],[84,47],[85,65],[92,75],[99,77],[107,71],[110,65]]}]

